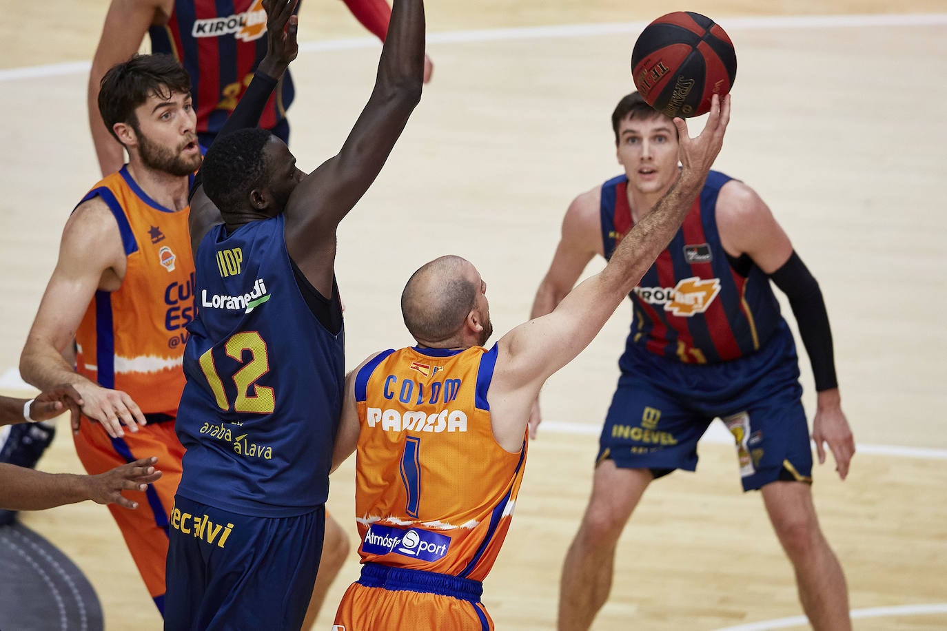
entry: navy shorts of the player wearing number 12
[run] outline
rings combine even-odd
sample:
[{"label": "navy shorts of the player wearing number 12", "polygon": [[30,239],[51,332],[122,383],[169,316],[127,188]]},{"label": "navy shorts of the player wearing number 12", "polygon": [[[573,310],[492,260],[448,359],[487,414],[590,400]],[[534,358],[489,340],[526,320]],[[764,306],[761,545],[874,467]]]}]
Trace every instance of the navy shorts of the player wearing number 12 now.
[{"label": "navy shorts of the player wearing number 12", "polygon": [[326,509],[252,517],[180,495],[171,512],[165,629],[292,629],[306,617]]}]

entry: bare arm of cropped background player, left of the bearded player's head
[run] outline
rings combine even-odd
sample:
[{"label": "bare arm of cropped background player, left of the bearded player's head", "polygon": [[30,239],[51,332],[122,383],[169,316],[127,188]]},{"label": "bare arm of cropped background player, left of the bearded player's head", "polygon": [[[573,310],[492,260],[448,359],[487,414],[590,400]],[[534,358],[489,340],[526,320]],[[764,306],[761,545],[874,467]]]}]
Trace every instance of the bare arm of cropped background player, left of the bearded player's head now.
[{"label": "bare arm of cropped background player, left of the bearded player's head", "polygon": [[[141,46],[148,28],[164,12],[167,2],[161,0],[112,0],[105,24],[92,59],[86,91],[89,108],[89,131],[96,146],[98,167],[102,175],[116,172],[125,162],[122,146],[106,129],[98,113],[98,89],[105,73],[116,63],[128,60]],[[173,6],[173,5],[171,5]],[[170,9],[169,9],[170,10]],[[165,18],[167,19],[167,18]]]}]

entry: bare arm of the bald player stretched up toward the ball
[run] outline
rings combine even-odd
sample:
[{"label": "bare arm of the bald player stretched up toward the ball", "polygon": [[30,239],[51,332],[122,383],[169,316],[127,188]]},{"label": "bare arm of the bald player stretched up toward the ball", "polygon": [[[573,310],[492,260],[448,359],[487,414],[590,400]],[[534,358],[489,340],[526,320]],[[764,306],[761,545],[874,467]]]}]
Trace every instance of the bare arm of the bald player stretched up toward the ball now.
[{"label": "bare arm of the bald player stretched up toward the ball", "polygon": [[498,428],[494,423],[494,434],[501,445],[506,438],[507,445],[515,446],[517,435],[522,440],[529,408],[545,379],[592,342],[668,246],[723,147],[729,118],[729,96],[724,96],[723,103],[714,96],[706,127],[696,138],[688,136],[684,119],[675,118],[683,165],[677,182],[621,240],[604,270],[572,289],[552,313],[517,326],[497,342],[499,357],[488,400],[494,419],[509,419],[505,427]]}]

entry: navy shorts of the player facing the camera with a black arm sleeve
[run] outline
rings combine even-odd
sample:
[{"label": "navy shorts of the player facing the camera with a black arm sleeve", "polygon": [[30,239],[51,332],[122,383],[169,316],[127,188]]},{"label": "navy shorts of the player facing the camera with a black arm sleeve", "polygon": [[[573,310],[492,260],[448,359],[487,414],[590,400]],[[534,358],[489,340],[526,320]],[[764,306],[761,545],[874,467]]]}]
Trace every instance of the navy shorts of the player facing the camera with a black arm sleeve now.
[{"label": "navy shorts of the player facing the camera with a black arm sleeve", "polygon": [[697,441],[715,418],[733,434],[744,491],[812,482],[795,342],[783,323],[752,356],[684,364],[629,350],[599,437],[597,463],[648,468],[655,478],[697,468]]}]

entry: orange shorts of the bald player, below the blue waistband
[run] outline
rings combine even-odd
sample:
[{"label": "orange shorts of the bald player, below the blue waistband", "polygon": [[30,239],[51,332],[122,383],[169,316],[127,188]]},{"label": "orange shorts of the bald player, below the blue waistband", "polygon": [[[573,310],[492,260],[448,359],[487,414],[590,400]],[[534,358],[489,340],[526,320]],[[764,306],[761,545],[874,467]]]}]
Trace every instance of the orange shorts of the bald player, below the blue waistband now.
[{"label": "orange shorts of the bald player, below the blue waistband", "polygon": [[333,631],[487,631],[493,622],[482,603],[353,583],[335,615]]}]

